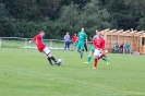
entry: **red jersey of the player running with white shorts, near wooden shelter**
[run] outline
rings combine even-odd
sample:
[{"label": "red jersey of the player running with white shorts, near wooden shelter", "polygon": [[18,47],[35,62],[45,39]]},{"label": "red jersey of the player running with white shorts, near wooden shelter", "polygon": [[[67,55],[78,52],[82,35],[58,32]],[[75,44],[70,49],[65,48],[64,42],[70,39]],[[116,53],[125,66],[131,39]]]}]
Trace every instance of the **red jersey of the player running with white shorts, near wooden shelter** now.
[{"label": "red jersey of the player running with white shorts, near wooden shelter", "polygon": [[98,37],[95,37],[93,39],[93,46],[95,49],[105,49],[105,39],[102,37],[98,38]]}]

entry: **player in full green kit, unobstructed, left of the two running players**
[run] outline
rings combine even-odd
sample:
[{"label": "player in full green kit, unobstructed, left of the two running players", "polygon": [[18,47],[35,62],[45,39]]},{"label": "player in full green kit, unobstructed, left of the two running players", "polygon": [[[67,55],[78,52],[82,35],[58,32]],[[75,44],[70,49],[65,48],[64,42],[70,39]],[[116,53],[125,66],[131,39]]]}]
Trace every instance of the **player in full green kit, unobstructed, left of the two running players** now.
[{"label": "player in full green kit, unobstructed, left of the two running players", "polygon": [[78,36],[77,51],[80,52],[81,58],[83,58],[84,44],[85,41],[87,44],[87,36],[84,32],[84,28],[81,29],[77,36]]}]

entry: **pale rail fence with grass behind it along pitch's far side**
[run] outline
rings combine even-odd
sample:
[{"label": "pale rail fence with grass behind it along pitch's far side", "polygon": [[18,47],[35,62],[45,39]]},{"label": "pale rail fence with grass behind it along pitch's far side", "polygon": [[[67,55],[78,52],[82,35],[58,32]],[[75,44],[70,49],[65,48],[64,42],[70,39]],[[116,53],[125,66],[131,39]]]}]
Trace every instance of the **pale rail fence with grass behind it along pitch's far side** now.
[{"label": "pale rail fence with grass behind it along pitch's far side", "polygon": [[[21,38],[21,37],[0,37],[0,47],[2,48],[36,48],[35,43],[29,44],[32,38]],[[46,46],[49,49],[64,49],[64,40],[59,39],[44,39]],[[92,44],[88,44],[88,49],[90,48]],[[74,49],[74,46],[70,46],[71,49]]]}]

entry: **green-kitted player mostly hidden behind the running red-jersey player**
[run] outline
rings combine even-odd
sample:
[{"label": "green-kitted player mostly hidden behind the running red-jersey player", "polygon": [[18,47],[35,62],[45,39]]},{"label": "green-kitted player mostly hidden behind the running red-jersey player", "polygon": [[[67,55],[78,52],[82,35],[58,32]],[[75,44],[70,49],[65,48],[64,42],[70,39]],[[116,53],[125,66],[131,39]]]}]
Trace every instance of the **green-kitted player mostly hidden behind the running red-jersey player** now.
[{"label": "green-kitted player mostly hidden behind the running red-jersey player", "polygon": [[[98,34],[98,31],[96,31],[96,35],[94,35],[93,39],[94,39],[95,37],[97,37],[97,34]],[[102,35],[101,35],[101,38],[104,38]],[[92,39],[92,40],[93,40],[93,39]],[[90,63],[92,55],[93,55],[94,52],[95,52],[95,48],[94,48],[94,46],[92,46],[92,48],[90,48],[90,50],[89,50],[89,55],[88,55],[88,57],[87,57],[87,61],[84,62],[84,63]],[[102,55],[99,57],[99,59],[102,59],[102,60],[107,63],[107,65],[109,65],[109,60],[107,59],[107,56],[106,56],[105,53],[102,53]]]}]

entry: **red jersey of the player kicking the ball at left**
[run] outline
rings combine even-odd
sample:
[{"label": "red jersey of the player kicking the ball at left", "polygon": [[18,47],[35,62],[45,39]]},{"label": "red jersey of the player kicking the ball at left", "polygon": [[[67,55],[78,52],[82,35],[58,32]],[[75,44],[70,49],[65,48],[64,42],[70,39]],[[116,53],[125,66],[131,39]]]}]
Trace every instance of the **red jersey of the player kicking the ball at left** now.
[{"label": "red jersey of the player kicking the ball at left", "polygon": [[44,48],[46,47],[43,43],[43,37],[38,34],[33,38],[33,41],[36,43],[37,49],[41,52]]}]

